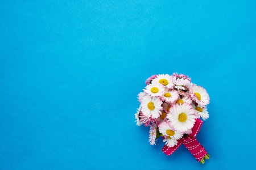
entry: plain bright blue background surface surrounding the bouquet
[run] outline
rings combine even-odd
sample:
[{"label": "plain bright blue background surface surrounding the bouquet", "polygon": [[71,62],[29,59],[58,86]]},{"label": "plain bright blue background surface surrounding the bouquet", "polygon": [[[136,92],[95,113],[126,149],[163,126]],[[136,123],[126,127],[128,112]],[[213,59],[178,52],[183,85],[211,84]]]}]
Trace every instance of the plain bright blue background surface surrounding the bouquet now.
[{"label": "plain bright blue background surface surrounding the bouquet", "polygon": [[[248,169],[256,1],[1,1],[0,169]],[[204,165],[136,126],[152,74],[207,89]]]}]

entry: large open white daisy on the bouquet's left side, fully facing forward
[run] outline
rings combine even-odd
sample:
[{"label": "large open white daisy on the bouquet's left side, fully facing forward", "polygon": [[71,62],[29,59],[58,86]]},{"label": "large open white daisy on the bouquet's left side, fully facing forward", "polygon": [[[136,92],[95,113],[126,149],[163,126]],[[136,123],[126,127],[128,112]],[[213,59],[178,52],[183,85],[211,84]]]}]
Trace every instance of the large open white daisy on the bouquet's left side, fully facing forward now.
[{"label": "large open white daisy on the bouquet's left side, fully facing forward", "polygon": [[158,97],[144,96],[141,101],[141,111],[146,117],[158,118],[162,114],[162,101]]}]

